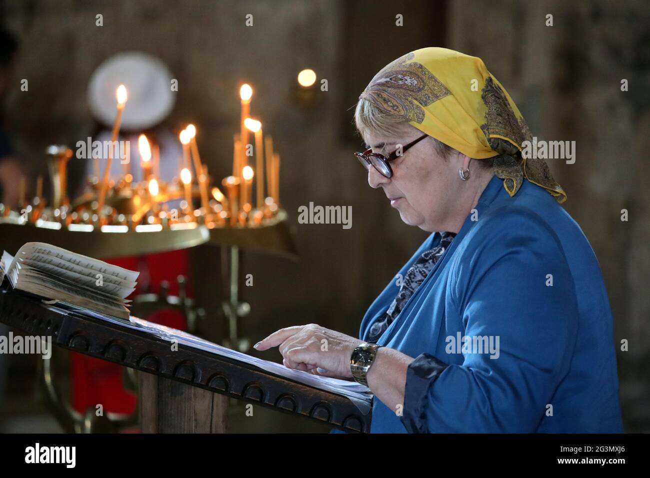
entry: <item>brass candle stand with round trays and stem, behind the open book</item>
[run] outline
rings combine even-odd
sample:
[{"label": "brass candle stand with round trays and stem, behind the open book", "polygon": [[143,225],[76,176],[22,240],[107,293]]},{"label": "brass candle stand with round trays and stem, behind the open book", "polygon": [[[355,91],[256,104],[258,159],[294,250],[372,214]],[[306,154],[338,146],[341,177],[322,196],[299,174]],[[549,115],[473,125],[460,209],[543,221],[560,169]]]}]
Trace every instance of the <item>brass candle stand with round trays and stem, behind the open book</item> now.
[{"label": "brass candle stand with round trays and stem, behind the open book", "polygon": [[[20,246],[32,241],[97,258],[138,256],[201,244],[220,246],[227,285],[227,300],[222,304],[229,325],[226,345],[248,349],[248,340],[237,332],[239,319],[250,311],[250,306],[239,299],[242,250],[298,258],[286,224],[287,213],[272,198],[267,198],[260,209],[252,209],[250,204],[240,207],[239,178],[229,177],[222,183],[226,196],[217,195],[220,201],[209,200],[207,208],[197,209],[195,200],[205,204],[205,187],[209,188],[205,184],[203,191],[201,185],[192,184],[192,204],[185,204],[185,185],[178,178],[167,183],[149,176],[148,181],[135,182],[131,174],[125,174],[108,183],[105,204],[99,211],[99,179],[89,178],[86,190],[70,200],[66,194],[66,165],[72,151],[66,146],[50,146],[46,153],[51,203],[35,197],[29,202],[21,198],[18,209],[0,204],[0,237],[8,252],[15,254]],[[208,176],[207,185],[211,183]],[[168,203],[176,200],[183,200],[181,207],[170,209]]]}]

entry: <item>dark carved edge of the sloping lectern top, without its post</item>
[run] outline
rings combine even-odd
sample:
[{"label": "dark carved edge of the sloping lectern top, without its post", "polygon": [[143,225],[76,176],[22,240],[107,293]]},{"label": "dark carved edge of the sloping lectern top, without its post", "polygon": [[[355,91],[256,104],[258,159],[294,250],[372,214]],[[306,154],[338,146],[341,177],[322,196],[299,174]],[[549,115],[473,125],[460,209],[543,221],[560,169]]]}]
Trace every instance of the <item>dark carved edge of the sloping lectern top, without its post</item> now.
[{"label": "dark carved edge of the sloping lectern top, without its post", "polygon": [[[5,282],[6,284],[6,282]],[[146,332],[92,317],[45,308],[40,299],[0,287],[0,322],[27,334],[51,336],[59,347],[101,358],[154,375],[168,377],[214,393],[266,408],[298,414],[351,432],[369,432],[371,413],[361,414],[350,399],[325,392],[248,364]]]}]

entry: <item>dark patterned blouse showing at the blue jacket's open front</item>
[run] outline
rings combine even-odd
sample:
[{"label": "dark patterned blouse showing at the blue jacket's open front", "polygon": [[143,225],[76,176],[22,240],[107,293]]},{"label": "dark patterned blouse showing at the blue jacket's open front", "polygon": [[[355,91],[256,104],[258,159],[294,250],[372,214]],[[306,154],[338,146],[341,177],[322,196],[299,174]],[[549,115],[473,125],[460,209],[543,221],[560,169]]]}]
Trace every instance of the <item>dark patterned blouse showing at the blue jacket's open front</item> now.
[{"label": "dark patterned blouse showing at the blue jacket's open front", "polygon": [[422,252],[422,255],[409,267],[409,270],[404,274],[402,280],[402,286],[400,291],[397,293],[397,297],[393,300],[393,303],[389,306],[385,315],[378,319],[368,331],[368,336],[365,338],[365,341],[369,343],[377,343],[379,338],[382,336],[391,323],[396,319],[406,302],[411,299],[411,296],[417,288],[424,282],[426,276],[434,268],[435,263],[442,257],[443,253],[451,241],[456,237],[456,233],[453,232],[442,232],[440,233],[440,245],[435,246],[434,248]]}]

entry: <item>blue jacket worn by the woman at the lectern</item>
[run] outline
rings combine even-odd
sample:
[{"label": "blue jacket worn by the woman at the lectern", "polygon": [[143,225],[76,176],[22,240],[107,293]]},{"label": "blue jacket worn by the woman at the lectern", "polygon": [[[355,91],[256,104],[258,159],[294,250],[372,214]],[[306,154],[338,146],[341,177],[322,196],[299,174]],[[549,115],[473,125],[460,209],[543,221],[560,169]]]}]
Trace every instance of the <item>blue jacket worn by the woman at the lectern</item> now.
[{"label": "blue jacket worn by the woman at the lectern", "polygon": [[[399,273],[439,241],[430,235]],[[372,303],[360,338],[398,289],[391,281]],[[597,259],[578,224],[528,181],[511,198],[491,180],[377,343],[416,360],[401,416],[375,397],[370,432],[622,431]]]}]

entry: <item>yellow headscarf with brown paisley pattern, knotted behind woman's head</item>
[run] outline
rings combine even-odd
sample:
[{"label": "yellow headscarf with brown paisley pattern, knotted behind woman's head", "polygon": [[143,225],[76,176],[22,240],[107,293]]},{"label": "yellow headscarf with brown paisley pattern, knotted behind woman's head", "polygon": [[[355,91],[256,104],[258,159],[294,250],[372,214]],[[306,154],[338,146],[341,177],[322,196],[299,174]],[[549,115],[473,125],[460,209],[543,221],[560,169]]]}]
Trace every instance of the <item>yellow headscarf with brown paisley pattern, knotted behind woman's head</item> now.
[{"label": "yellow headscarf with brown paisley pattern, knotted behind woman's head", "polygon": [[542,159],[523,155],[522,143],[532,141],[530,130],[480,58],[438,47],[412,51],[377,73],[359,99],[471,158],[495,157],[495,175],[510,196],[526,178],[560,203],[567,198]]}]

